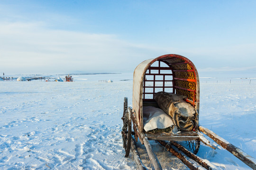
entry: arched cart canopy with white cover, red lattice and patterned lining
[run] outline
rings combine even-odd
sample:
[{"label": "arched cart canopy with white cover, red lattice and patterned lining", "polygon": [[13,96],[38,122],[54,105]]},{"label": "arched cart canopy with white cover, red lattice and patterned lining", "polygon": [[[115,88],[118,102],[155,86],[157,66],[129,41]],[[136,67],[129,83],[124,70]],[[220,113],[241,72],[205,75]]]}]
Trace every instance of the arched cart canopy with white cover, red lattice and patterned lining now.
[{"label": "arched cart canopy with white cover, red lattice and patterned lining", "polygon": [[133,74],[132,108],[141,132],[143,103],[153,102],[155,93],[160,91],[186,96],[185,101],[199,113],[199,76],[192,61],[177,54],[147,59],[135,68]]}]

